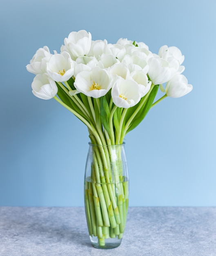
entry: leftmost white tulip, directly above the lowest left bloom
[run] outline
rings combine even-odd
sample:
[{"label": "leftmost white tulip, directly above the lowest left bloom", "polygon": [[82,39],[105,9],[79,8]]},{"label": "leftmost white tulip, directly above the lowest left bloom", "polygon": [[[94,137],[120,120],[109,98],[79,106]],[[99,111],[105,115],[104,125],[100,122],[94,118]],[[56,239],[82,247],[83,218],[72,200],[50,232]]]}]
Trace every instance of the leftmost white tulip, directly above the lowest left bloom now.
[{"label": "leftmost white tulip, directly above the lowest left bloom", "polygon": [[53,54],[49,52],[49,48],[44,46],[39,48],[26,66],[27,70],[33,74],[43,74],[46,72],[46,65]]}]

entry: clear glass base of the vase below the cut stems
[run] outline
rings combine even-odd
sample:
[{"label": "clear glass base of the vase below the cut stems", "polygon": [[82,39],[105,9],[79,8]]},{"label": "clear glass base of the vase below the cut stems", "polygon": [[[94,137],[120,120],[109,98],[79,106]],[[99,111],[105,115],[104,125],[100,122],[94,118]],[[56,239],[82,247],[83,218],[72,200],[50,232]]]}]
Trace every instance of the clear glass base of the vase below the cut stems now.
[{"label": "clear glass base of the vase below the cut stems", "polygon": [[98,249],[113,249],[118,247],[121,242],[122,238],[118,239],[118,236],[115,238],[105,238],[105,239],[98,239],[97,236],[90,236],[91,245]]}]

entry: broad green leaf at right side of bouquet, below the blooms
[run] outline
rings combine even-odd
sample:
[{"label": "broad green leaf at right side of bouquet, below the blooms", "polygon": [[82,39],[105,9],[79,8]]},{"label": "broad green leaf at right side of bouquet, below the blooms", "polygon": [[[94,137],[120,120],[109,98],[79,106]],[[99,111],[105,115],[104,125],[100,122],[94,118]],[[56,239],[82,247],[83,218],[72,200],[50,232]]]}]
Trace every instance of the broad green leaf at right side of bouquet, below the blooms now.
[{"label": "broad green leaf at right side of bouquet, below the blooms", "polygon": [[[133,130],[134,128],[136,128],[136,126],[138,126],[141,123],[141,121],[143,121],[143,119],[145,118],[145,116],[149,112],[149,109],[151,108],[151,105],[152,105],[152,103],[154,101],[154,98],[156,97],[156,94],[158,92],[158,88],[159,88],[159,85],[155,85],[154,86],[154,88],[152,89],[151,93],[149,94],[149,96],[147,98],[146,103],[143,104],[143,107],[136,114],[136,117],[134,117],[134,119],[131,122],[129,128],[127,129],[127,132],[129,132],[129,131]],[[141,101],[139,103],[141,103]],[[136,106],[134,106],[134,107],[136,107]],[[134,107],[132,107],[132,108],[134,108]],[[129,117],[131,116],[131,113],[133,113],[136,110],[136,108],[131,109],[129,112],[127,112],[127,119],[129,119]]]}]

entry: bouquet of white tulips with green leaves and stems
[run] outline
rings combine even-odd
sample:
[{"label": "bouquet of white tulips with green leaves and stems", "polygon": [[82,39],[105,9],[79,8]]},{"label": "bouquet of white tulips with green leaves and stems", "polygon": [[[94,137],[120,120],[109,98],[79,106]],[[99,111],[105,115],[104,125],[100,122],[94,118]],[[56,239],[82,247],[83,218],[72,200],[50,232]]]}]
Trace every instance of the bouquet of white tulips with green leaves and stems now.
[{"label": "bouquet of white tulips with green leaves and stems", "polygon": [[[31,85],[36,97],[58,101],[87,126],[91,144],[111,148],[123,143],[125,135],[140,124],[152,106],[167,96],[177,98],[192,90],[182,74],[183,61],[184,56],[174,46],[164,45],[154,54],[142,42],[123,38],[116,44],[94,41],[90,33],[81,30],[65,38],[60,53],[51,54],[47,46],[38,49],[27,70],[36,74]],[[164,95],[154,102],[158,88]],[[121,212],[118,204],[121,198],[127,205],[125,187],[116,192],[101,186],[124,178],[116,171],[120,154],[110,157],[108,151],[109,147],[95,152],[91,178],[98,185],[96,189],[88,185],[87,191],[92,193],[85,196],[91,210],[87,218],[89,234],[97,236],[100,245],[111,234],[121,238],[127,216],[127,206]],[[108,171],[110,166],[114,166],[114,174]],[[99,207],[95,198],[100,199]],[[95,216],[102,218],[101,224],[98,219],[94,221]],[[106,227],[110,227],[109,232]]]}]

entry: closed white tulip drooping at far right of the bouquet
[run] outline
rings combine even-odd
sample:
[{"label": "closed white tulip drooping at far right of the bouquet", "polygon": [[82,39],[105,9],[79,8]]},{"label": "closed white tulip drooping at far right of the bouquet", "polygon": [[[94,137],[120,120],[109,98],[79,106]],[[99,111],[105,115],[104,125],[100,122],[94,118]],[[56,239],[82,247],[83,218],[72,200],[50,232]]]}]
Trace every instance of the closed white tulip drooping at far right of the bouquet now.
[{"label": "closed white tulip drooping at far right of the bouquet", "polygon": [[171,98],[182,97],[191,92],[193,86],[188,84],[187,78],[182,74],[175,75],[166,84],[166,94]]}]

